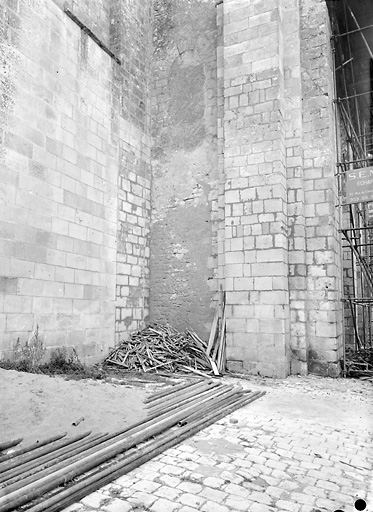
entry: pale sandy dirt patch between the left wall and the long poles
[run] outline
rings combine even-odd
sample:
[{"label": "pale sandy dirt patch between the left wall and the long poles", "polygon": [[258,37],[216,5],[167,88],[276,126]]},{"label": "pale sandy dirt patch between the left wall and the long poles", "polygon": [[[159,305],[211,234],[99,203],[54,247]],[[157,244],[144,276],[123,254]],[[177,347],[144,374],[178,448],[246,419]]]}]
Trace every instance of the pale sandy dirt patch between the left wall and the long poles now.
[{"label": "pale sandy dirt patch between the left wall and the long poles", "polygon": [[[0,442],[23,437],[24,444],[62,432],[71,436],[123,429],[146,417],[144,398],[164,386],[151,380],[112,380],[66,380],[0,369]],[[74,426],[79,418],[84,420]]]}]

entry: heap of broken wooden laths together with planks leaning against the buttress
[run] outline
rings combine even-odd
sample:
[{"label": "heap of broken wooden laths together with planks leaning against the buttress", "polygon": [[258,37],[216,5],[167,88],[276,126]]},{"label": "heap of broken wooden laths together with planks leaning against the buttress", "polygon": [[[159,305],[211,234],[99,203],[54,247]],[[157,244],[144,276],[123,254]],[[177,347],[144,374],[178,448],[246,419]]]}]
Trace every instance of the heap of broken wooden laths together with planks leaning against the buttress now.
[{"label": "heap of broken wooden laths together with planks leaning against the buttress", "polygon": [[104,364],[127,371],[220,375],[225,354],[225,294],[220,292],[208,343],[191,329],[181,333],[170,325],[154,324],[120,343]]}]

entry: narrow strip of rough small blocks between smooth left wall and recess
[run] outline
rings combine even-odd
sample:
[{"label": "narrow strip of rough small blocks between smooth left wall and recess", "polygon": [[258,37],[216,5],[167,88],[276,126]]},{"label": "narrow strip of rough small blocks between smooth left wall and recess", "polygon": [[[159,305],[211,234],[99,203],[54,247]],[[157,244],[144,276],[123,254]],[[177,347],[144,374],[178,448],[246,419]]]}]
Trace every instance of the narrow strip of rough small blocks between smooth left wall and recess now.
[{"label": "narrow strip of rough small blocks between smooth left wall and recess", "polygon": [[111,3],[112,127],[118,147],[115,341],[149,319],[151,2]]}]

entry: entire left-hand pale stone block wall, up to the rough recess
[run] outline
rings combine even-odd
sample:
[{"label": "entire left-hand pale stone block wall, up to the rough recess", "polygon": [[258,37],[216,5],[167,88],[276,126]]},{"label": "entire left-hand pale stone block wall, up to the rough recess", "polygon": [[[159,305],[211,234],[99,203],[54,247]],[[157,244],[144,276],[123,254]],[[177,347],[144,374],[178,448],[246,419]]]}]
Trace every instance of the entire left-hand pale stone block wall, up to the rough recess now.
[{"label": "entire left-hand pale stone block wall, up to the rough recess", "polygon": [[[124,37],[111,27],[114,2],[68,7],[103,43]],[[115,326],[138,327],[147,311],[148,113],[131,78],[143,64],[130,54],[123,87],[115,62],[62,8],[0,6],[0,350],[38,325],[48,347],[73,345],[93,361]],[[131,9],[125,37],[135,41],[150,11],[140,1]],[[138,98],[131,108],[122,90]]]}]

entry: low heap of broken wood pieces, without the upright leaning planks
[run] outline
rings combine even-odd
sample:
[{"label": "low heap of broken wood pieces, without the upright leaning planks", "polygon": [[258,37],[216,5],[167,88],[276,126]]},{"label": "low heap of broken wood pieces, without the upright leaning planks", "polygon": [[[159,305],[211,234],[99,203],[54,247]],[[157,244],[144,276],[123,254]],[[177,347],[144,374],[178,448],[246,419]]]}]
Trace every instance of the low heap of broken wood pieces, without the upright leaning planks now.
[{"label": "low heap of broken wood pieces, without the upright leaning planks", "polygon": [[168,324],[154,324],[123,341],[104,364],[135,372],[211,372],[206,349],[207,344],[192,330],[181,333]]}]

